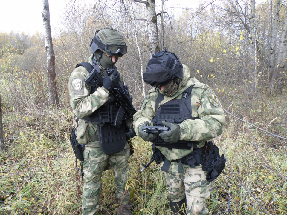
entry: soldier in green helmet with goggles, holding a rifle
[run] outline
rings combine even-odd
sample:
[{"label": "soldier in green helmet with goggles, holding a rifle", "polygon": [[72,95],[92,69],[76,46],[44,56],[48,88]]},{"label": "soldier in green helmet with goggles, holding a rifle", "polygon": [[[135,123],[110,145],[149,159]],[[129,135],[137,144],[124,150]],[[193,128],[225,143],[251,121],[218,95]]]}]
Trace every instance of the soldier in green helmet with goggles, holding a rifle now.
[{"label": "soldier in green helmet with goggles, holding a rifle", "polygon": [[[124,86],[122,76],[114,64],[118,57],[127,51],[123,36],[115,29],[98,30],[92,39],[92,55],[88,62],[76,66],[69,79],[71,105],[79,119],[76,136],[79,144],[85,144],[83,162],[84,187],[82,211],[84,215],[97,214],[101,195],[101,176],[107,166],[115,176],[115,196],[119,202],[117,215],[132,215],[129,202],[130,193],[125,190],[129,178],[129,145],[126,131],[132,124],[132,118],[126,114],[116,128],[115,117],[119,108],[113,104],[110,93],[117,86]],[[112,74],[108,74],[113,67]],[[90,72],[97,72],[103,77],[103,86],[94,83],[89,86],[85,80]],[[128,137],[132,137],[127,133]],[[127,138],[129,139],[129,138]]]}]

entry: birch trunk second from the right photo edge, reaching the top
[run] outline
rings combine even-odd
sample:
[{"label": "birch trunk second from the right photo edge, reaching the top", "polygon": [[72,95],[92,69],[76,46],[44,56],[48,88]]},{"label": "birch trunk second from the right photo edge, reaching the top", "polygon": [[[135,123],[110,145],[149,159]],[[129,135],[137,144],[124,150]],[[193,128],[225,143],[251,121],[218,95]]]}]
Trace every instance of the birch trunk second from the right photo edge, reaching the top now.
[{"label": "birch trunk second from the right photo edge, reaching the top", "polygon": [[272,19],[272,36],[270,41],[270,52],[269,52],[269,73],[271,76],[270,90],[271,94],[274,91],[276,75],[274,74],[274,61],[275,61],[275,49],[276,40],[278,32],[278,22],[279,22],[279,10],[280,10],[280,0],[275,1],[274,18]]}]

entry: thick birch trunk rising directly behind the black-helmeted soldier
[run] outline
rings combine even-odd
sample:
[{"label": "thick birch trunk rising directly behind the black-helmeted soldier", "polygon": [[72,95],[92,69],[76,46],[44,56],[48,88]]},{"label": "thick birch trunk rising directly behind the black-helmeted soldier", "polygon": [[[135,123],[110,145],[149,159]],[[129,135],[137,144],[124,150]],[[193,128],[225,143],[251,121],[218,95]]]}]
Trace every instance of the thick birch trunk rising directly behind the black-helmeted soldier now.
[{"label": "thick birch trunk rising directly behind the black-helmeted soldier", "polygon": [[155,13],[155,0],[146,1],[147,30],[149,33],[150,57],[159,51],[158,48],[158,24]]}]

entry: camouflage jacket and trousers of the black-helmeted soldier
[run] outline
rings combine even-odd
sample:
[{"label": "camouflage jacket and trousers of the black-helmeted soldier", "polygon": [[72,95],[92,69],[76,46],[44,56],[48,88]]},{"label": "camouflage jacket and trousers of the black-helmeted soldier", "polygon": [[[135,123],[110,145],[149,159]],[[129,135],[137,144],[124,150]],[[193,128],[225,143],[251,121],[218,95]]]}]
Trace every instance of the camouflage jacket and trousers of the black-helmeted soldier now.
[{"label": "camouflage jacket and trousers of the black-helmeted soldier", "polygon": [[[182,93],[185,89],[193,85],[191,91],[191,109],[192,117],[199,117],[199,119],[187,119],[181,124],[179,140],[199,141],[198,148],[204,147],[205,141],[214,138],[213,132],[219,136],[225,128],[225,114],[219,108],[220,102],[208,85],[200,83],[195,78],[190,78],[190,71],[186,65],[183,65],[183,77],[178,88],[178,91],[172,96],[164,96],[164,100],[158,105],[172,100],[181,99]],[[149,121],[150,124],[152,117],[155,115],[158,107],[155,107],[155,102],[158,93],[163,94],[157,88],[149,90],[148,95],[144,99],[140,110],[135,113],[134,130],[138,135],[139,127]],[[216,102],[213,100],[213,98]],[[168,160],[177,160],[188,155],[193,151],[185,149],[172,149],[168,150],[167,147],[157,148]],[[162,162],[163,164],[163,162]],[[182,173],[178,174],[178,165],[181,165]],[[164,173],[170,200],[178,202],[187,198],[187,214],[207,214],[205,208],[206,199],[210,196],[211,183],[206,181],[206,172],[201,168],[201,165],[196,168],[190,168],[188,165],[172,162],[167,173]]]}]

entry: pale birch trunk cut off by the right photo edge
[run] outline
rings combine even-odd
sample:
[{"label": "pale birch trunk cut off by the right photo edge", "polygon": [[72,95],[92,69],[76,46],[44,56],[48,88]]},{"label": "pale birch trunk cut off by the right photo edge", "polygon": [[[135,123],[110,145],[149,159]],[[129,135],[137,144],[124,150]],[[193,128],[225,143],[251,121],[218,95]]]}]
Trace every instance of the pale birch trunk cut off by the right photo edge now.
[{"label": "pale birch trunk cut off by the right photo edge", "polygon": [[[287,14],[285,14],[284,23],[281,30],[280,41],[278,45],[278,53],[276,57],[276,64],[274,69],[274,76],[277,79],[277,94],[281,93],[282,91],[282,74],[284,70],[284,64],[287,57]],[[286,69],[286,67],[285,67]]]}]

